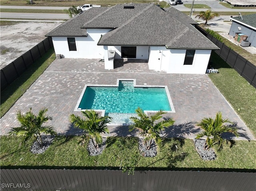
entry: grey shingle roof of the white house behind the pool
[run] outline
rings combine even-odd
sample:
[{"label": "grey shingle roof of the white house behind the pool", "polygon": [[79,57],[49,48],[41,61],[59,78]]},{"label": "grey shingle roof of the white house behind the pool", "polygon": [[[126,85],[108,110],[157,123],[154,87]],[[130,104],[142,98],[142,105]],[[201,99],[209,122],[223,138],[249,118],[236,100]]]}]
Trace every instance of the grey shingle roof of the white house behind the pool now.
[{"label": "grey shingle roof of the white house behind the pool", "polygon": [[[130,6],[130,8],[124,8]],[[134,6],[134,8],[131,8]],[[98,45],[151,45],[176,49],[218,49],[200,33],[198,24],[175,8],[154,4],[122,4],[93,7],[65,22],[48,36],[81,36],[86,28],[110,28]],[[72,32],[73,31],[73,32]],[[58,34],[59,33],[59,34]]]}]

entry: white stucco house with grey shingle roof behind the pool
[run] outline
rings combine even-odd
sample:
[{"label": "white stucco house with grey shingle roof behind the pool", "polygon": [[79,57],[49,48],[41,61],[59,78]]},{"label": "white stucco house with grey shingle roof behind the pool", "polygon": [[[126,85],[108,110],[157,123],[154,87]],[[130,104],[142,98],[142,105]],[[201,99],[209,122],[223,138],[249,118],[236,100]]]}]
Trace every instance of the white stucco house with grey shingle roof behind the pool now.
[{"label": "white stucco house with grey shingle roof behind the pool", "polygon": [[175,8],[154,4],[92,7],[66,21],[51,36],[56,55],[104,59],[143,59],[149,69],[204,74],[211,51],[218,49],[194,28],[198,24]]}]

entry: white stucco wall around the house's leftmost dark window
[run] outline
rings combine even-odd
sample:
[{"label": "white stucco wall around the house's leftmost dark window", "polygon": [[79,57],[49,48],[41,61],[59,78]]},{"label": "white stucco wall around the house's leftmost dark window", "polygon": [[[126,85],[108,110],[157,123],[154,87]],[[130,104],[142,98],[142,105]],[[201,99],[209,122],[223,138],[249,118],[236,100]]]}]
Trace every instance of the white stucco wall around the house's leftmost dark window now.
[{"label": "white stucco wall around the house's leftmost dark window", "polygon": [[97,43],[101,35],[109,32],[110,29],[87,29],[87,37],[75,37],[76,51],[69,51],[67,37],[52,37],[56,54],[62,54],[65,58],[104,58],[103,46]]}]

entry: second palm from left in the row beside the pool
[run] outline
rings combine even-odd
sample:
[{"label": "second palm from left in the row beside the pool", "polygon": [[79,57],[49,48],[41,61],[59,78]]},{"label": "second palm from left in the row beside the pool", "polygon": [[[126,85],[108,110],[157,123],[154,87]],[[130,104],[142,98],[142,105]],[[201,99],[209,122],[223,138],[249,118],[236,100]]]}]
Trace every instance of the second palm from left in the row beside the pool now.
[{"label": "second palm from left in the row beside the pool", "polygon": [[[100,133],[108,133],[107,124],[111,122],[112,118],[109,116],[99,117],[99,114],[95,110],[81,111],[86,119],[80,118],[74,114],[70,115],[70,122],[74,124],[75,128],[81,128],[86,134],[81,136],[79,142],[80,145],[84,145],[88,140],[92,140],[95,148],[99,148],[99,144],[102,144],[102,136]],[[95,140],[95,142],[94,142]]]}]

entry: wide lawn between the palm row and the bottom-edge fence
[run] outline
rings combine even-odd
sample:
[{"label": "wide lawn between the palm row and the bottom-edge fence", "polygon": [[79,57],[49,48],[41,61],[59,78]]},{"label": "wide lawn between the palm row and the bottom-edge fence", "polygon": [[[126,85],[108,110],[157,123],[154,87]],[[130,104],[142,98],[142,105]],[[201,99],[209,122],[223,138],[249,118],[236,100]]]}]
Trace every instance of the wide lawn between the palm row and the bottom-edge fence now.
[{"label": "wide lawn between the palm row and the bottom-edge fence", "polygon": [[122,161],[122,165],[134,165],[135,169],[256,171],[256,141],[237,141],[232,148],[225,144],[223,150],[216,153],[216,160],[203,161],[189,139],[181,140],[182,146],[179,140],[164,140],[153,158],[139,154],[137,138],[108,138],[107,147],[99,156],[88,156],[86,147],[78,146],[78,139],[57,136],[46,152],[32,154],[32,140],[19,146],[20,138],[2,136],[0,165],[4,169],[119,169]]}]

